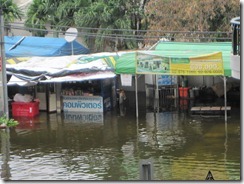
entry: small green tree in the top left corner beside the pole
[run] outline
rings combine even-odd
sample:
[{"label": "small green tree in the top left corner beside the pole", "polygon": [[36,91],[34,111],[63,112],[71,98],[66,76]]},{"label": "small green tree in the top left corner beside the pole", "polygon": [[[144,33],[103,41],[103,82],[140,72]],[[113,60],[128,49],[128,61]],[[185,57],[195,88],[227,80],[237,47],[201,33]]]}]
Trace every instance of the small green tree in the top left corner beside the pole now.
[{"label": "small green tree in the top left corner beside the pole", "polygon": [[9,23],[14,22],[16,19],[21,20],[24,14],[12,0],[0,0],[0,3],[3,11],[5,32],[8,35],[10,31]]}]

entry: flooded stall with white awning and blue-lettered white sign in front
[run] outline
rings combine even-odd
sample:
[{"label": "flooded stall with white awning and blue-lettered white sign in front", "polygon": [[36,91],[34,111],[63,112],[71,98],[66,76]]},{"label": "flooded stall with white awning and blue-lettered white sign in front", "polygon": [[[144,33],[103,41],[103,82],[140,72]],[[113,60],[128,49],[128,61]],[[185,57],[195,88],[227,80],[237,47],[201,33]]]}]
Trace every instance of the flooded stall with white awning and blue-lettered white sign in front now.
[{"label": "flooded stall with white awning and blue-lettered white sign in front", "polygon": [[115,105],[110,55],[14,58],[16,64],[7,64],[8,85],[34,85],[40,110],[103,113]]}]

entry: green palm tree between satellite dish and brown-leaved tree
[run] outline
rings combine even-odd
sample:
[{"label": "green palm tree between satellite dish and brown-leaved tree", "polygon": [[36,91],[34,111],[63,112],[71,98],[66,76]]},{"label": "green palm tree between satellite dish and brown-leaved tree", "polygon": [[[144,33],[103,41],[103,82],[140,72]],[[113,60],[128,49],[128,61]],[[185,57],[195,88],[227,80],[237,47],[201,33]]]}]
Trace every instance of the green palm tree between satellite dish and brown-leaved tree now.
[{"label": "green palm tree between satellite dish and brown-leaved tree", "polygon": [[[137,48],[139,30],[146,29],[146,0],[97,0],[74,14],[75,24],[82,28],[95,51]],[[89,29],[87,28],[89,27]]]}]

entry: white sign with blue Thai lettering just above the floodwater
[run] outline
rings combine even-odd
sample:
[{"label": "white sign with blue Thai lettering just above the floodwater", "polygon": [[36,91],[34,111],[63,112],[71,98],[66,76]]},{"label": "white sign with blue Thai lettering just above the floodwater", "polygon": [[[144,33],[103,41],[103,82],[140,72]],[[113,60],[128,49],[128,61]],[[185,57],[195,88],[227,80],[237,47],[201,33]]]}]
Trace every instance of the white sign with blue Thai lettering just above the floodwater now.
[{"label": "white sign with blue Thai lettering just above the floodwater", "polygon": [[63,96],[64,112],[103,112],[103,97]]}]

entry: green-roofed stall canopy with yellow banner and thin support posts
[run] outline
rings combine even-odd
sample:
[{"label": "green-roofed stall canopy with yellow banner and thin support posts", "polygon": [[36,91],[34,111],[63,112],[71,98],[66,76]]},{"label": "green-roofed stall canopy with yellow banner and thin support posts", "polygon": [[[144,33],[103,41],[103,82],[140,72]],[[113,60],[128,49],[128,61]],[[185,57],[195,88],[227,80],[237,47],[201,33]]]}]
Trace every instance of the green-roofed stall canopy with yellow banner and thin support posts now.
[{"label": "green-roofed stall canopy with yellow banner and thin support posts", "polygon": [[[159,41],[149,51],[122,54],[116,60],[115,72],[116,74],[135,76],[136,99],[137,75],[220,76],[224,81],[225,119],[227,119],[226,77],[231,76],[230,53],[230,42],[186,43]],[[138,103],[136,106],[136,116],[138,117]]]}]

